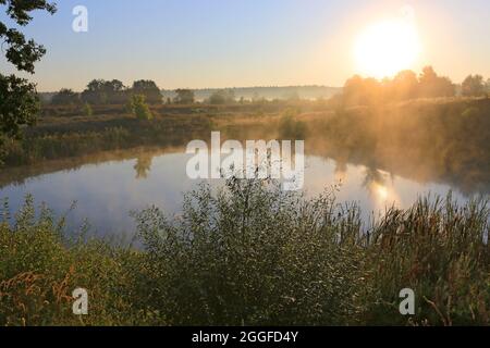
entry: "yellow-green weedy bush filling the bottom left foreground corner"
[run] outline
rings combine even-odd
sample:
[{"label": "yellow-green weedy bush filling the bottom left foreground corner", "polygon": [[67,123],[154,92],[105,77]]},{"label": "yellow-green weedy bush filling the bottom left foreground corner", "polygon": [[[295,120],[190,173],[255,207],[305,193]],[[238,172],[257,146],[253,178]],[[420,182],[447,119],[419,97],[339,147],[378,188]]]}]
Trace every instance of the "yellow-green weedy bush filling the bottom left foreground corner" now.
[{"label": "yellow-green weedy bush filling the bottom left foreground corner", "polygon": [[[56,221],[46,207],[35,219],[32,197],[12,226],[5,211],[0,222],[0,325],[124,325],[139,316],[126,295],[131,275],[123,264],[131,253],[101,240],[69,238],[64,219]],[[89,294],[90,314],[84,318],[72,312],[77,287]]]}]

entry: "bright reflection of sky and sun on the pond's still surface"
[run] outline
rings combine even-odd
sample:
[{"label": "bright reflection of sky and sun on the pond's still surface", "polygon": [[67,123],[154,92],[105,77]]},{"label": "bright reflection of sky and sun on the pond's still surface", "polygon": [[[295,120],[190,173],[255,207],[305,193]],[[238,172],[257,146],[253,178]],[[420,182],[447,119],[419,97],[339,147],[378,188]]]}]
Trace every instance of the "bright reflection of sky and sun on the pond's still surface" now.
[{"label": "bright reflection of sky and sun on the pond's still surface", "polygon": [[[76,200],[76,209],[69,215],[70,226],[79,226],[87,219],[93,228],[103,234],[134,231],[130,212],[157,206],[167,213],[179,212],[182,192],[198,182],[185,173],[189,156],[170,153],[138,160],[110,161],[87,164],[76,171],[60,171],[40,175],[20,186],[5,186],[0,198],[9,197],[12,211],[17,211],[26,194],[36,204],[46,202],[57,213],[65,212]],[[137,178],[138,177],[138,178]],[[431,192],[445,196],[450,186],[418,184],[388,173],[357,165],[339,165],[333,160],[307,157],[305,189],[308,196],[320,194],[326,187],[342,182],[336,194],[339,202],[357,202],[365,220],[378,215],[387,206],[409,207],[419,195]],[[218,181],[220,182],[220,181]],[[454,192],[454,198],[464,198]]]}]

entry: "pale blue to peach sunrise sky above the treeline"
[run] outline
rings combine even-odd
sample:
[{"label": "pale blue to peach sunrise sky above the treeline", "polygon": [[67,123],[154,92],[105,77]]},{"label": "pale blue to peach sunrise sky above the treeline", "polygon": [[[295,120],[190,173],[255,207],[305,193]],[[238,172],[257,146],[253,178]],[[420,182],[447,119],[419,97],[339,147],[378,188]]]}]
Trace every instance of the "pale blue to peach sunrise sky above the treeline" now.
[{"label": "pale blue to peach sunrise sky above the treeline", "polygon": [[[54,0],[56,1],[56,0]],[[58,0],[51,16],[34,13],[23,32],[47,49],[39,91],[83,90],[93,78],[126,85],[154,79],[164,89],[247,86],[343,86],[366,75],[356,40],[409,7],[425,65],[454,82],[490,77],[488,0]],[[72,11],[88,10],[75,33]],[[0,5],[0,21],[8,22]],[[9,22],[8,22],[9,23]],[[15,70],[0,54],[0,73]]]}]

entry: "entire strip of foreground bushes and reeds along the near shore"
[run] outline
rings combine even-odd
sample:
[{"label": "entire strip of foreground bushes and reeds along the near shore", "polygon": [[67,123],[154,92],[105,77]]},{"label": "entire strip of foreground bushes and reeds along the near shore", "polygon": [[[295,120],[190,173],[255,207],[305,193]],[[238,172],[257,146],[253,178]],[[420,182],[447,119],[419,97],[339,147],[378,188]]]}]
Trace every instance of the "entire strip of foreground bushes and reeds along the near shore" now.
[{"label": "entire strip of foreground bushes and reeds along the near shore", "polygon": [[[0,223],[0,325],[490,324],[489,209],[420,199],[363,229],[334,191],[230,179],[136,214],[143,249],[63,233],[33,199]],[[89,293],[89,315],[71,293]],[[416,314],[399,293],[416,294]]]}]

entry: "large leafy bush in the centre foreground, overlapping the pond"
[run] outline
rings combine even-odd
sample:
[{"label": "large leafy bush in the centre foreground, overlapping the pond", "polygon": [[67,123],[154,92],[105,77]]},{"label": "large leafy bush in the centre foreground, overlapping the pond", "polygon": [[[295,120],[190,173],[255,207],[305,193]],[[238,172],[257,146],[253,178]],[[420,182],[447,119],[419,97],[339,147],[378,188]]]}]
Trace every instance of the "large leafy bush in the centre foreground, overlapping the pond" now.
[{"label": "large leafy bush in the centre foreground, overlapping the pond", "polygon": [[306,201],[262,184],[231,179],[217,196],[201,187],[173,221],[138,214],[158,289],[146,301],[172,324],[355,322],[366,287],[357,210],[338,219],[330,195]]}]

